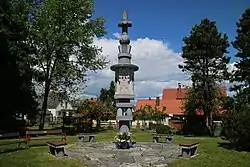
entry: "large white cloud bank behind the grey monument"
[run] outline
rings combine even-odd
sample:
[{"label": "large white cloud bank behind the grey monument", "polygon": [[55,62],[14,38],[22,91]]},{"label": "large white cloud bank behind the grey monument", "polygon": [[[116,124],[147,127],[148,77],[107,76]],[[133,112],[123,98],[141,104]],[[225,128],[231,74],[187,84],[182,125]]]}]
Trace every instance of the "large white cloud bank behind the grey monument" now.
[{"label": "large white cloud bank behind the grey monument", "polygon": [[[113,34],[116,38],[119,33]],[[108,87],[111,80],[114,80],[114,72],[110,65],[118,62],[117,39],[95,39],[94,44],[103,48],[103,55],[108,55],[109,66],[90,75],[87,82],[86,92],[99,94],[103,87]],[[180,53],[175,53],[166,43],[160,40],[139,38],[131,41],[132,63],[139,66],[135,73],[135,95],[137,98],[156,97],[162,93],[163,88],[176,88],[177,83],[190,85],[188,76],[179,68],[182,63]],[[229,66],[230,69],[233,66]]]}]

